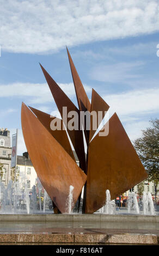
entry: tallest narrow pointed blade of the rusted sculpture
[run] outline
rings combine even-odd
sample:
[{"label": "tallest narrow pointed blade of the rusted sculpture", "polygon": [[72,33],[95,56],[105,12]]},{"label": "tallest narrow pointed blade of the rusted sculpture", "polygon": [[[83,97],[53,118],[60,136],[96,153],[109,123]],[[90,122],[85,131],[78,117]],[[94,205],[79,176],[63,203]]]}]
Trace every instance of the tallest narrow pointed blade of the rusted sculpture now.
[{"label": "tallest narrow pointed blade of the rusted sculpture", "polygon": [[[88,99],[87,94],[85,93],[83,84],[78,76],[77,70],[75,68],[74,62],[72,61],[72,58],[70,56],[69,50],[66,47],[67,52],[68,52],[68,57],[69,57],[69,63],[70,63],[70,68],[71,68],[71,73],[72,73],[72,78],[74,81],[74,86],[75,86],[75,92],[76,92],[76,97],[77,97],[77,102],[78,102],[78,107],[79,111],[89,111],[90,112],[90,101]],[[89,143],[89,130],[86,130],[85,127],[85,122],[84,119],[82,120],[82,124],[84,127],[84,134],[85,134],[85,140],[87,142],[87,145]]]}]

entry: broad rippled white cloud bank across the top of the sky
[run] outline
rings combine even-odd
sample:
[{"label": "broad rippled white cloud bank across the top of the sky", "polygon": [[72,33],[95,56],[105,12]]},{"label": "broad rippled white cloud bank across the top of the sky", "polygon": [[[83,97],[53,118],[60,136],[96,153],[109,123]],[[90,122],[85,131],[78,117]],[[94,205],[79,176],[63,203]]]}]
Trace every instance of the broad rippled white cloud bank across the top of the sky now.
[{"label": "broad rippled white cloud bank across the top of the sky", "polygon": [[159,30],[157,0],[1,1],[0,44],[9,52],[58,51]]}]

